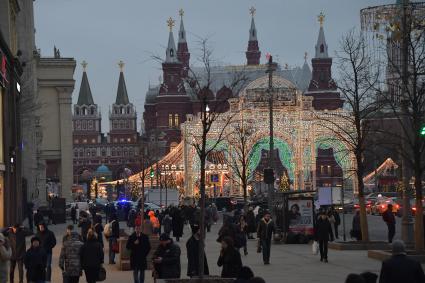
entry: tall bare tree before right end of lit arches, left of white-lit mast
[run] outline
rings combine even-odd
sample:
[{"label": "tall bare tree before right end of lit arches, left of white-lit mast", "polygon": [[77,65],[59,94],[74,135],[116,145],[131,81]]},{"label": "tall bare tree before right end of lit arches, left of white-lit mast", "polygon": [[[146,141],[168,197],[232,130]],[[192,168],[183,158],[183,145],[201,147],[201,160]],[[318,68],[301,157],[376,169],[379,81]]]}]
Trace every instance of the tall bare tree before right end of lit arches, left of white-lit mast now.
[{"label": "tall bare tree before right end of lit arches, left of white-lit mast", "polygon": [[373,133],[368,119],[376,112],[374,85],[378,82],[378,72],[370,68],[365,40],[353,29],[340,41],[337,52],[338,89],[342,94],[347,112],[330,112],[321,116],[322,126],[330,129],[335,139],[342,141],[347,149],[346,154],[354,156],[356,170],[354,177],[358,184],[360,206],[360,225],[362,241],[369,241],[366,205],[364,198],[363,176],[365,174],[364,154],[367,140]]}]

